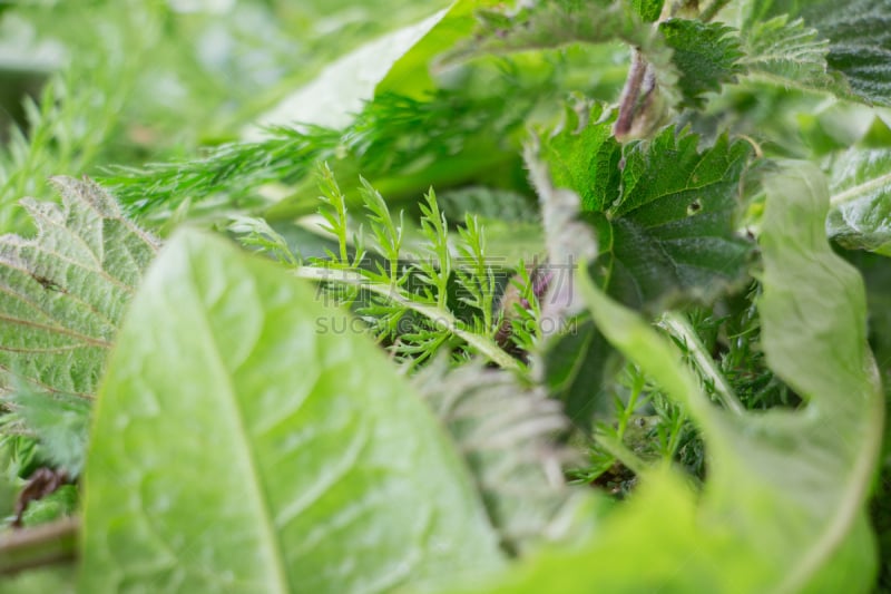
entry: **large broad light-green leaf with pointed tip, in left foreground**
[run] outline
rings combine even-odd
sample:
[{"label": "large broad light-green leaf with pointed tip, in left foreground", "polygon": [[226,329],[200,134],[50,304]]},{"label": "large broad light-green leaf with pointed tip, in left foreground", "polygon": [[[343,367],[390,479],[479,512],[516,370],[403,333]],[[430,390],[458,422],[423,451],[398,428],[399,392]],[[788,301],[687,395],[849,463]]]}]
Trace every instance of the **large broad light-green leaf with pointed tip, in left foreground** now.
[{"label": "large broad light-green leaf with pointed tip, in left foreground", "polygon": [[196,232],[134,300],[95,411],[81,592],[388,592],[500,564],[467,470],[352,319]]}]

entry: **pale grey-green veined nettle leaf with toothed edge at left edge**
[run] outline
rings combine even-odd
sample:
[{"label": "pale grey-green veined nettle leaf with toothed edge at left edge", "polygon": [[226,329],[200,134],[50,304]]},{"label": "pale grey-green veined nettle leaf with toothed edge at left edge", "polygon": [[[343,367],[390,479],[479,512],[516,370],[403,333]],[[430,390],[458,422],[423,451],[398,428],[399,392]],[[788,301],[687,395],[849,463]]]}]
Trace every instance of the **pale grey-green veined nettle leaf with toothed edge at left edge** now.
[{"label": "pale grey-green veined nettle leaf with toothed edge at left edge", "polygon": [[158,242],[96,184],[55,183],[61,207],[22,201],[37,235],[0,237],[0,387],[90,398]]}]

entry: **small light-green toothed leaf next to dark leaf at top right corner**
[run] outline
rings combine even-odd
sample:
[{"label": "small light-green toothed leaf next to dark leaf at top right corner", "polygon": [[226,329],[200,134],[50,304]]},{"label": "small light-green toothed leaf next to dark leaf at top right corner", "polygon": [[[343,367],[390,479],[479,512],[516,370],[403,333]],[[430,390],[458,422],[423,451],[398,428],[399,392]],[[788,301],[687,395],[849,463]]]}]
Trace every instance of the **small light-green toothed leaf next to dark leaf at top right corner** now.
[{"label": "small light-green toothed leaf next to dark leaf at top right corner", "polygon": [[790,22],[783,14],[758,20],[744,32],[744,43],[742,62],[750,72],[807,89],[831,89],[836,84],[828,71],[829,41],[802,19]]}]

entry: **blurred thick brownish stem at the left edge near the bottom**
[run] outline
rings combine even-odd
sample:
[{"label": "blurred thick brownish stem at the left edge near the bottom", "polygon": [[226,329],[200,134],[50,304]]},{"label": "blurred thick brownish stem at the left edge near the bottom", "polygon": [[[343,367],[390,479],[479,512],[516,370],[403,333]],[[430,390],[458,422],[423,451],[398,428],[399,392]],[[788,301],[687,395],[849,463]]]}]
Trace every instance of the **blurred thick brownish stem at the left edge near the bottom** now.
[{"label": "blurred thick brownish stem at the left edge near the bottom", "polygon": [[78,526],[70,517],[0,536],[0,575],[74,561]]}]

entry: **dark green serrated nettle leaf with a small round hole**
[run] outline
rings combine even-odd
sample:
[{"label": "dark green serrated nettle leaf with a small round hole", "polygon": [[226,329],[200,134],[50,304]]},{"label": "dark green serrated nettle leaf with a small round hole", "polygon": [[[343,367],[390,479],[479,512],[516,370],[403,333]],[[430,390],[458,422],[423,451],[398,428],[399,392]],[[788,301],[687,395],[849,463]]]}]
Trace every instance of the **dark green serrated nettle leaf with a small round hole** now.
[{"label": "dark green serrated nettle leaf with a small round hole", "polygon": [[737,235],[735,216],[746,143],[722,136],[699,152],[698,136],[669,127],[623,148],[600,107],[584,127],[569,117],[542,144],[542,157],[555,185],[581,196],[610,294],[635,306],[708,301],[742,277],[751,244]]}]

